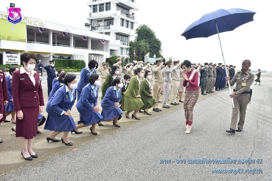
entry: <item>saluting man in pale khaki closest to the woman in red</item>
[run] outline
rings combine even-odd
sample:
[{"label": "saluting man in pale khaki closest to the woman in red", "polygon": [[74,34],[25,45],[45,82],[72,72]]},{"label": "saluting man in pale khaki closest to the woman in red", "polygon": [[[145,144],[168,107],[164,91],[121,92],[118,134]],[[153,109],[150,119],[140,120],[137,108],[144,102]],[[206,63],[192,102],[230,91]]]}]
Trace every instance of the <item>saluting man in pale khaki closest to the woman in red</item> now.
[{"label": "saluting man in pale khaki closest to the woman in red", "polygon": [[[178,65],[180,63],[180,60],[174,60],[174,65],[172,67]],[[180,69],[176,68],[172,72],[172,83],[171,83],[171,105],[179,105],[179,103],[176,102],[176,95],[180,88]]]}]

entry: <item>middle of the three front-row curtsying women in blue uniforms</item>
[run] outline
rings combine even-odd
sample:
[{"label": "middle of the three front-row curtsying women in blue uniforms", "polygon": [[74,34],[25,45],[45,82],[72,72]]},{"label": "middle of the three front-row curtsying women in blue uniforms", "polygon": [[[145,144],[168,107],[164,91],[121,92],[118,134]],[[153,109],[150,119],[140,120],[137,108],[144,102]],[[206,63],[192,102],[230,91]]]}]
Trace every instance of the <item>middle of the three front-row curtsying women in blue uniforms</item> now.
[{"label": "middle of the three front-row curtsying women in blue uniforms", "polygon": [[96,123],[103,117],[99,113],[100,108],[97,106],[98,87],[100,85],[99,75],[93,73],[89,78],[89,84],[83,87],[81,96],[76,103],[76,108],[79,112],[79,122],[76,129],[71,131],[76,134],[81,134],[77,129],[92,125],[90,128],[93,135],[97,135]]}]

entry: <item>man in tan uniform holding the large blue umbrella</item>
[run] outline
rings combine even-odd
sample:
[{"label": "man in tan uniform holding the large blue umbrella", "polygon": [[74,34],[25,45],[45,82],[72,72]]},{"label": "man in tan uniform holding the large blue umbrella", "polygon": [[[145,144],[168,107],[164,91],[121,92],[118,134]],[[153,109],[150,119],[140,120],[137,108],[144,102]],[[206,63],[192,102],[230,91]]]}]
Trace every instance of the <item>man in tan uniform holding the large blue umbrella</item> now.
[{"label": "man in tan uniform holding the large blue umbrella", "polygon": [[[226,132],[235,133],[238,113],[240,113],[240,115],[236,131],[240,132],[243,130],[245,113],[250,101],[250,86],[254,82],[254,74],[249,71],[250,66],[250,60],[244,60],[242,63],[242,71],[238,71],[232,80],[229,81],[231,86],[236,82],[236,87],[234,93],[230,94],[230,97],[233,98],[234,108],[232,109],[232,122],[230,129]],[[229,76],[226,77],[226,81],[228,80]]]}]

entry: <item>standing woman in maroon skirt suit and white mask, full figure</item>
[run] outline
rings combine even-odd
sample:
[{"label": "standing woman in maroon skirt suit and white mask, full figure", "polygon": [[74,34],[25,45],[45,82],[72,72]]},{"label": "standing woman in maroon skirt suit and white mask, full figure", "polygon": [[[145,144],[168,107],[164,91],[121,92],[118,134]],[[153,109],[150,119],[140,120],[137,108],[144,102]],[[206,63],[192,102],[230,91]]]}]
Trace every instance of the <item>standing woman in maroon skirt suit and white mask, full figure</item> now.
[{"label": "standing woman in maroon skirt suit and white mask, full figure", "polygon": [[40,78],[34,71],[37,57],[33,53],[21,55],[23,67],[12,75],[12,96],[16,117],[16,137],[21,137],[25,160],[37,158],[32,150],[33,138],[37,135],[37,119],[43,111],[44,97]]}]

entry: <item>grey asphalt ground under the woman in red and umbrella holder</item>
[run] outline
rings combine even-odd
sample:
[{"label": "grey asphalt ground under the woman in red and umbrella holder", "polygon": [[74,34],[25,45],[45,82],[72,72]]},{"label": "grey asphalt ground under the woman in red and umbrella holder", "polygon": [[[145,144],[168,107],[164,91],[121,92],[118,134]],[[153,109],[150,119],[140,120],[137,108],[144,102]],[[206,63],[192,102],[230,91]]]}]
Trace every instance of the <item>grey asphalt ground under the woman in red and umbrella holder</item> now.
[{"label": "grey asphalt ground under the woman in red and umbrella holder", "polygon": [[[252,85],[253,97],[248,105],[242,132],[228,134],[232,108],[228,90],[201,96],[194,109],[190,134],[186,130],[183,106],[164,109],[152,116],[138,114],[123,129],[115,129],[98,139],[67,148],[54,155],[59,143],[43,142],[49,157],[20,169],[0,180],[272,180],[271,169],[271,90],[272,76],[262,76],[262,85]],[[204,97],[204,98],[203,98]],[[130,120],[132,122],[132,120]],[[120,124],[121,124],[120,123]],[[2,127],[2,126],[1,126]],[[1,128],[2,129],[2,128]],[[87,130],[87,129],[86,129]],[[73,134],[74,135],[74,134]],[[71,135],[70,135],[71,136]],[[74,135],[74,139],[81,135]],[[88,136],[89,137],[89,136]],[[35,138],[36,139],[36,138]],[[77,142],[76,142],[77,143]],[[0,145],[2,146],[2,145]],[[16,146],[19,147],[19,146]],[[1,151],[2,152],[2,151]],[[42,152],[42,151],[40,151]],[[6,152],[5,152],[6,153]],[[2,156],[5,153],[1,153]],[[17,153],[19,155],[19,153]],[[186,159],[186,164],[175,160]],[[187,159],[255,159],[254,164],[188,164]],[[22,159],[18,156],[16,159]],[[256,160],[262,159],[262,164]],[[39,158],[38,158],[39,159]],[[174,163],[160,164],[160,159]],[[37,160],[37,159],[36,159]],[[14,160],[16,162],[16,160]],[[12,161],[11,161],[12,163]],[[30,165],[28,165],[30,164]],[[5,164],[10,166],[10,164]],[[0,165],[1,170],[5,169]],[[212,173],[212,169],[254,169],[262,173]]]}]

